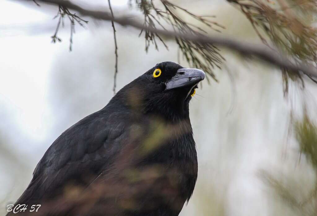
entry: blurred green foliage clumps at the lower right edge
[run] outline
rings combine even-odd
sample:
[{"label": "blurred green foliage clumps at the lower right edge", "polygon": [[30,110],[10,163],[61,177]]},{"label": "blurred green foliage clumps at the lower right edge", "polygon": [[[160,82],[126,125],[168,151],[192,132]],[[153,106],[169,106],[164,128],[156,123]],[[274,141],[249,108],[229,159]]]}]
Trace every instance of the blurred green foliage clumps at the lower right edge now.
[{"label": "blurred green foliage clumps at the lower right edge", "polygon": [[[317,127],[305,113],[301,121],[295,123],[295,135],[298,140],[301,154],[304,154],[313,168],[317,170]],[[296,182],[286,176],[273,175],[271,172],[261,170],[260,177],[283,204],[289,206],[294,215],[316,215],[315,200],[317,185],[307,193],[305,184]],[[283,208],[284,209],[284,208]]]}]

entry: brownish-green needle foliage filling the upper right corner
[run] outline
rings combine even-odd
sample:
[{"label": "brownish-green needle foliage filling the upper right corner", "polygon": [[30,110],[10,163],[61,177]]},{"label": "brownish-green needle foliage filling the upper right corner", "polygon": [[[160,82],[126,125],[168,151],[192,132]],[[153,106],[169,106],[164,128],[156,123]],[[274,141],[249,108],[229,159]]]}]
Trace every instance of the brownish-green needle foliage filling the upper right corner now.
[{"label": "brownish-green needle foliage filling the upper right corner", "polygon": [[[294,63],[317,64],[317,29],[314,24],[316,2],[312,0],[227,0],[249,19],[262,42],[275,46],[292,57]],[[279,6],[278,6],[279,5]],[[282,69],[284,92],[288,91],[288,78],[303,79],[299,73]],[[311,76],[311,80],[317,83]]]}]

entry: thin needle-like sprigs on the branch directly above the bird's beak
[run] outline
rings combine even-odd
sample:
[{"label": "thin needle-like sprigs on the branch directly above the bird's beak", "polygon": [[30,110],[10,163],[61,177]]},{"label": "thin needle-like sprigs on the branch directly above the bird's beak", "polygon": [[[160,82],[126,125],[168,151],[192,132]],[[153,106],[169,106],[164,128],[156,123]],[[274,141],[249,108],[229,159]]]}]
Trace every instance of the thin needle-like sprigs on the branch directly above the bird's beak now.
[{"label": "thin needle-like sprigs on the branch directly above the bird's beak", "polygon": [[[132,6],[132,0],[129,2]],[[164,30],[171,29],[177,33],[191,35],[207,34],[204,27],[217,32],[220,32],[220,29],[224,29],[222,25],[211,20],[214,16],[200,16],[193,14],[189,10],[167,0],[159,0],[156,2],[159,4],[154,4],[152,0],[135,0],[137,8],[141,10],[144,15],[144,26],[146,27],[155,29],[159,26]],[[202,24],[204,27],[185,21],[181,15],[191,17],[193,21]],[[151,43],[155,45],[155,49],[158,50],[157,39],[159,39],[159,41],[164,44],[165,48],[168,49],[164,42],[164,38],[159,36],[159,34],[149,30],[142,30],[139,36],[142,35],[143,32],[145,35],[146,51]],[[207,75],[210,75],[217,81],[213,69],[215,67],[220,69],[220,65],[225,59],[222,57],[220,50],[216,46],[212,44],[200,44],[179,37],[175,37],[175,42],[178,45],[179,51],[191,67],[202,69]]]}]

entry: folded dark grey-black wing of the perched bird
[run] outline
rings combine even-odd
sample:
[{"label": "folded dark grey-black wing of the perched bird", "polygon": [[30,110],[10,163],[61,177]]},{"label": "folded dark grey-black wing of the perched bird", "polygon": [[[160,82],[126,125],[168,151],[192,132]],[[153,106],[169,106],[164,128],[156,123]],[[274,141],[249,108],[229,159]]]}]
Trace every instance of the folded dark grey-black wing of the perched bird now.
[{"label": "folded dark grey-black wing of the perched bird", "polygon": [[128,136],[122,113],[93,113],[68,128],[45,152],[33,179],[16,204],[41,204],[63,193],[66,183],[87,187],[111,165],[120,151],[121,138]]}]

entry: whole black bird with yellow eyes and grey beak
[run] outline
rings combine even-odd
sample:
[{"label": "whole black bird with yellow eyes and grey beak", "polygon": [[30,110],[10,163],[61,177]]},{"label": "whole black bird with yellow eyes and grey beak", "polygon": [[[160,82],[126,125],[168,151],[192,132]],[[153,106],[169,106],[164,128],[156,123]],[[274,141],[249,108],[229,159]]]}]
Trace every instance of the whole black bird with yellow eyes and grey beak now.
[{"label": "whole black bird with yellow eyes and grey beak", "polygon": [[[124,86],[53,142],[12,209],[37,216],[178,215],[197,180],[189,101],[204,77],[162,62]],[[30,212],[32,205],[41,206]]]}]

